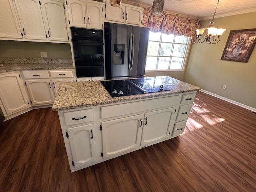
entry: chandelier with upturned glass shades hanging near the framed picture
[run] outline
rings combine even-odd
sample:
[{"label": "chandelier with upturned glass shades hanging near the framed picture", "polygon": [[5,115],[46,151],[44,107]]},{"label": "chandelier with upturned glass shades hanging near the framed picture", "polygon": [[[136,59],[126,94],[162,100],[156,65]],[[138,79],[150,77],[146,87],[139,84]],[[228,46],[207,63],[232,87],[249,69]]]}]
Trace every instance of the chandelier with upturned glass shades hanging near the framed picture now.
[{"label": "chandelier with upturned glass shades hanging near the framed picture", "polygon": [[[215,12],[213,14],[212,21],[210,22],[209,27],[196,30],[197,43],[206,42],[206,43],[216,44],[220,41],[220,36],[222,35],[222,33],[226,31],[226,29],[220,29],[220,28],[218,29],[216,27],[212,27],[214,23],[213,19],[214,19],[218,4],[219,4],[219,0],[217,2]],[[204,38],[202,38],[202,35]]]}]

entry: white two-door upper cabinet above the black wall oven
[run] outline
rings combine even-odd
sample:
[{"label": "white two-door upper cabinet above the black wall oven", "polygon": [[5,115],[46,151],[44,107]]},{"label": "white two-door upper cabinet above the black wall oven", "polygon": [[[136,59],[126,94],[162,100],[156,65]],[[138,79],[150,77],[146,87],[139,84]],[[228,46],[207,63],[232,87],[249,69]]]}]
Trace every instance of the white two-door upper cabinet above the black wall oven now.
[{"label": "white two-door upper cabinet above the black wall oven", "polygon": [[70,26],[103,29],[103,3],[91,0],[67,0]]}]

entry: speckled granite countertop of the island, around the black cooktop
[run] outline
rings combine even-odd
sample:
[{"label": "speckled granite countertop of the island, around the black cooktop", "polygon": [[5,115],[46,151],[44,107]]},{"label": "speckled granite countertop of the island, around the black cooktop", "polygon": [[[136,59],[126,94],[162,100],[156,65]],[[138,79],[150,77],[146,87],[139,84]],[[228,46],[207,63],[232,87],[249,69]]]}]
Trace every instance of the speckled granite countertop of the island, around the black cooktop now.
[{"label": "speckled granite countertop of the island, around the black cooktop", "polygon": [[198,91],[201,88],[170,78],[164,85],[169,91],[144,93],[131,96],[111,97],[100,81],[61,83],[52,109],[54,111],[68,110],[102,104],[111,104],[131,100],[167,96],[172,94]]}]

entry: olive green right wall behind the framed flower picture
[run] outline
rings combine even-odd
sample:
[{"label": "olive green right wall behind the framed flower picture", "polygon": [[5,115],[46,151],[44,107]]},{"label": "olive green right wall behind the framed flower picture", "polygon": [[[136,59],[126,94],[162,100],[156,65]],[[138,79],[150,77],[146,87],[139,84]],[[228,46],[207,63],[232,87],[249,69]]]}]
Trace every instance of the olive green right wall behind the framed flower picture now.
[{"label": "olive green right wall behind the framed flower picture", "polygon": [[[207,28],[209,23],[210,20],[201,21],[200,28]],[[184,81],[256,108],[256,48],[247,63],[220,60],[230,30],[256,28],[256,12],[216,18],[214,27],[227,30],[218,44],[192,45]]]}]

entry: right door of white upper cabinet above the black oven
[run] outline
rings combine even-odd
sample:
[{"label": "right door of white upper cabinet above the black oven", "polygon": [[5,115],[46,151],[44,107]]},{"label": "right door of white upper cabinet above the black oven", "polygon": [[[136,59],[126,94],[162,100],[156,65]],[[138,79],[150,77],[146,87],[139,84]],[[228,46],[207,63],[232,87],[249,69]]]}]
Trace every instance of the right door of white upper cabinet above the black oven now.
[{"label": "right door of white upper cabinet above the black oven", "polygon": [[86,2],[88,28],[103,29],[102,11],[102,4]]}]

